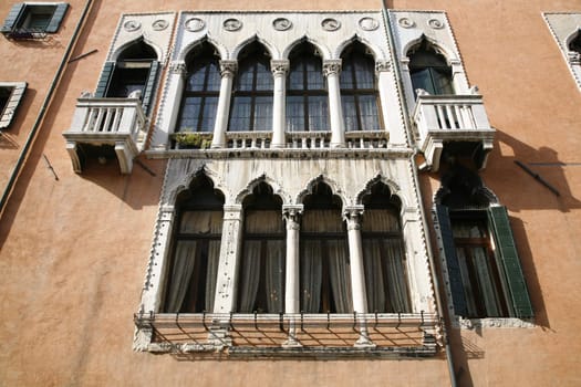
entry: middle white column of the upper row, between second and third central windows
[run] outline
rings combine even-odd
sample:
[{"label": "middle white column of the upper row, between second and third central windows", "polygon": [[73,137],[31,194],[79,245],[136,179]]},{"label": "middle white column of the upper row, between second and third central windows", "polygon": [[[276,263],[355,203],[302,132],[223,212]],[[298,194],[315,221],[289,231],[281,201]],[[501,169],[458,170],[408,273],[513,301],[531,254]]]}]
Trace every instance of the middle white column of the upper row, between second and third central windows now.
[{"label": "middle white column of the upper row, between second and third central windows", "polygon": [[272,95],[272,148],[283,148],[286,146],[284,129],[287,127],[287,73],[289,72],[289,61],[270,61],[270,69],[274,77],[274,93]]}]

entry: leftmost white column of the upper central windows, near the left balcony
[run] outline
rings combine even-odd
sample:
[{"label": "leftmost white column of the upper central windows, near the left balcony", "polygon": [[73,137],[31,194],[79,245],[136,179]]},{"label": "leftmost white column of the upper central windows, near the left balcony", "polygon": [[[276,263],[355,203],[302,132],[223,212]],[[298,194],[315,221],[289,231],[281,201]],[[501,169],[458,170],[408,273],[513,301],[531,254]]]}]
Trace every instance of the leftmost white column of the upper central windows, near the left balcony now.
[{"label": "leftmost white column of the upper central windows, near the left balcony", "polygon": [[[153,150],[165,150],[167,148],[169,134],[176,130],[186,75],[187,67],[185,62],[173,62],[169,65],[167,92],[164,95],[164,104],[166,108],[159,112],[159,115],[164,115],[164,117],[157,117],[157,121],[162,123],[162,127],[155,129],[152,136],[151,148]],[[169,117],[165,117],[166,114],[168,114]]]}]

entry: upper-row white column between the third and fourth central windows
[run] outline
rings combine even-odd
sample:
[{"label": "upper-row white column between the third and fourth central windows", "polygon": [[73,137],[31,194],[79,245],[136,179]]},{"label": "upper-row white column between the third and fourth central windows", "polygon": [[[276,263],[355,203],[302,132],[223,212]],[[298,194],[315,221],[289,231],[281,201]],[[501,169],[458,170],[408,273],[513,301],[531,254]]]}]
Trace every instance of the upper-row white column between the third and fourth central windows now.
[{"label": "upper-row white column between the third and fourth central windows", "polygon": [[326,77],[329,90],[329,115],[331,119],[331,147],[345,146],[345,125],[343,122],[343,108],[341,107],[341,85],[339,74],[341,72],[341,60],[323,61],[323,74]]}]

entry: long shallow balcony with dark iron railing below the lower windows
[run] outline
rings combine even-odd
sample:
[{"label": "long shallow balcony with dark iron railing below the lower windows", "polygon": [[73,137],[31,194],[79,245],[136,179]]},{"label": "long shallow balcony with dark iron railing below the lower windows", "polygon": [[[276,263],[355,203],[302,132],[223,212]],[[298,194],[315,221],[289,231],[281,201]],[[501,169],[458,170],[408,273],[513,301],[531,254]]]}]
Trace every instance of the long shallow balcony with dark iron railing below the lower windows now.
[{"label": "long shallow balcony with dark iron railing below the lower windows", "polygon": [[134,322],[151,334],[144,349],[178,357],[426,357],[436,354],[439,332],[437,316],[423,312],[142,313]]}]

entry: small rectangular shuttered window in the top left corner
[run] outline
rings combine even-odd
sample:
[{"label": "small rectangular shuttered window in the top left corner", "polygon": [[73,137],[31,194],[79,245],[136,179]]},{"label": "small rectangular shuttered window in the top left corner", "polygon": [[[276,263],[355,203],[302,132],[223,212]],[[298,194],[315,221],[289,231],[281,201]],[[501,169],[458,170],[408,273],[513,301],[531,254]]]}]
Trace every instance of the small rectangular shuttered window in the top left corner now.
[{"label": "small rectangular shuttered window in the top left corner", "polygon": [[65,2],[17,3],[8,13],[0,32],[10,38],[35,38],[33,33],[55,33],[69,9]]}]

